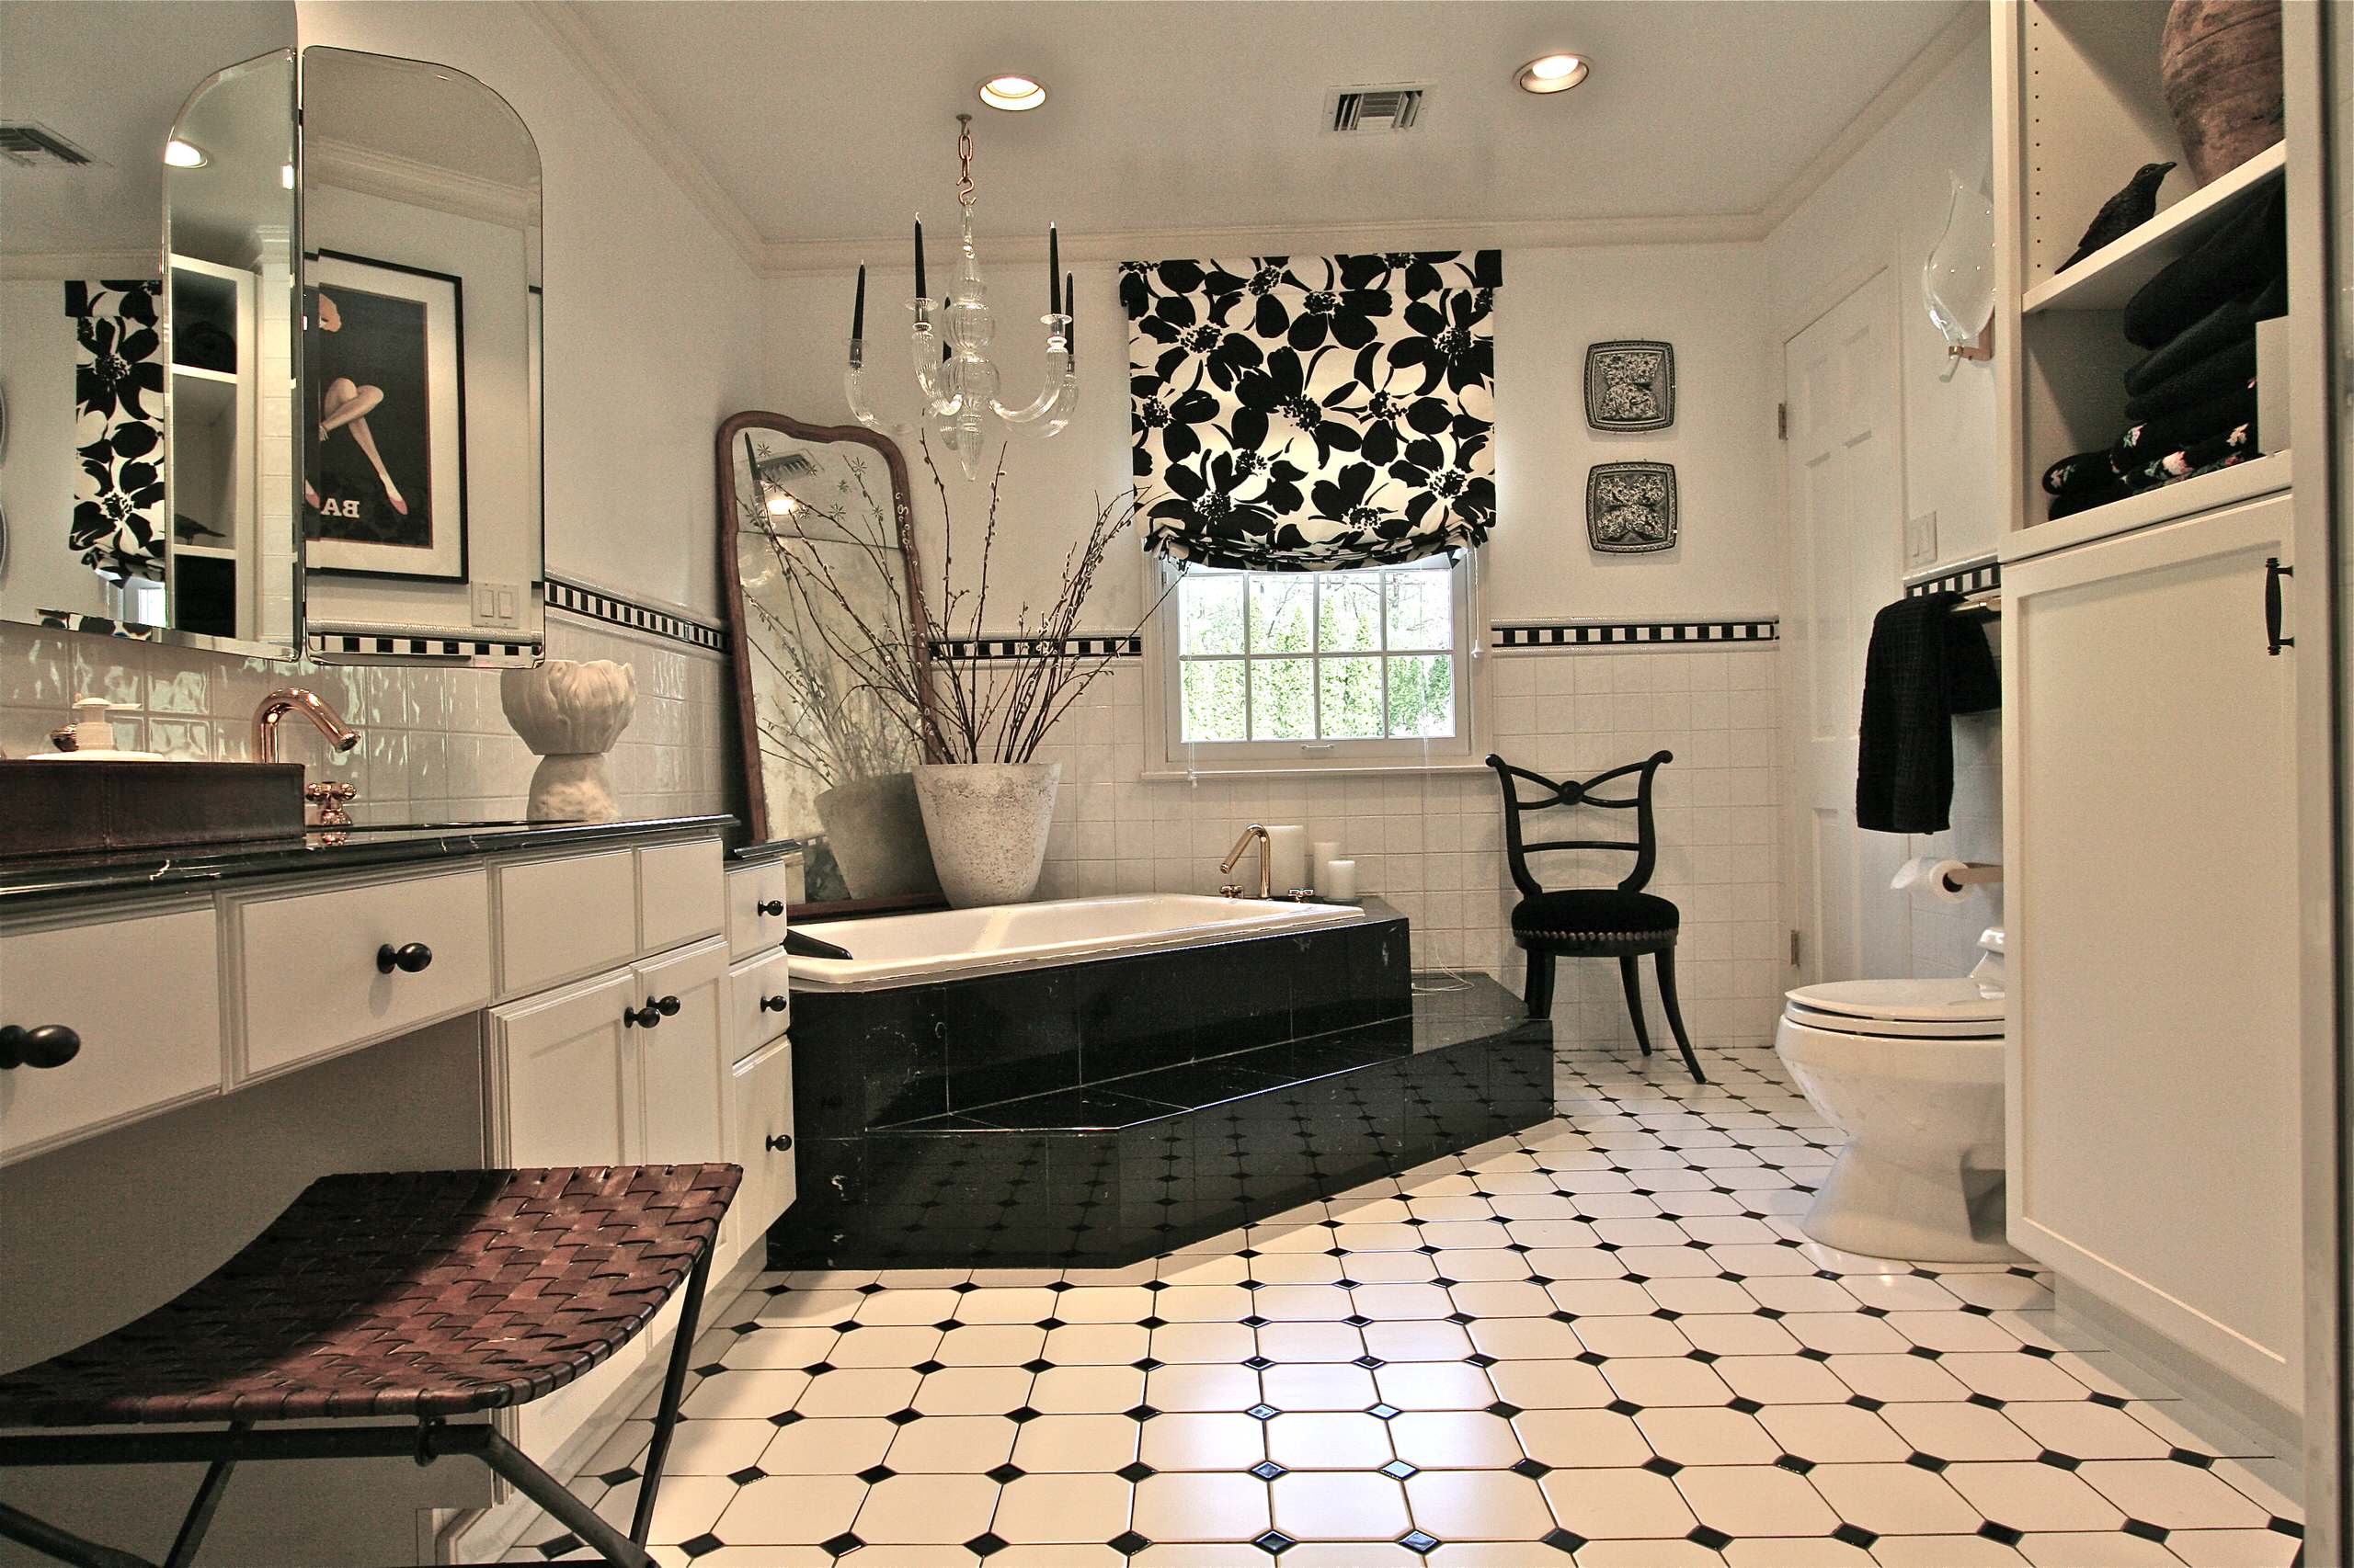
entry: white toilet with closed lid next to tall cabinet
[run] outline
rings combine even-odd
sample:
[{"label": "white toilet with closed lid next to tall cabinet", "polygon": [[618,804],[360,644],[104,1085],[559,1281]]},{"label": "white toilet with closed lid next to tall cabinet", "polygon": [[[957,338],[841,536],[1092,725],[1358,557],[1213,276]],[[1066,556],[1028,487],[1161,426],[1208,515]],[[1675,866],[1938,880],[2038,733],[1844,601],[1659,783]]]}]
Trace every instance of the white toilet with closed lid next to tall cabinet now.
[{"label": "white toilet with closed lid next to tall cabinet", "polygon": [[2003,1243],[2003,932],[1968,979],[1789,991],[1775,1052],[1848,1135],[1798,1229],[1911,1262],[2022,1262]]}]

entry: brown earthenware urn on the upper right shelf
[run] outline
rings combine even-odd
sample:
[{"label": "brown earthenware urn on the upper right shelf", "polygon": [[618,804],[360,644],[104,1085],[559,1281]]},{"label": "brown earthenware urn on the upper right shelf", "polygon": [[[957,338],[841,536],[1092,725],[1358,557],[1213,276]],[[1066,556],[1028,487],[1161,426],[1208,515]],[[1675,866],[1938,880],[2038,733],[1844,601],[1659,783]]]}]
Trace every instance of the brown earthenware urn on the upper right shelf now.
[{"label": "brown earthenware urn on the upper right shelf", "polygon": [[2159,40],[2166,113],[2203,186],[2281,139],[2281,0],[2175,0]]}]

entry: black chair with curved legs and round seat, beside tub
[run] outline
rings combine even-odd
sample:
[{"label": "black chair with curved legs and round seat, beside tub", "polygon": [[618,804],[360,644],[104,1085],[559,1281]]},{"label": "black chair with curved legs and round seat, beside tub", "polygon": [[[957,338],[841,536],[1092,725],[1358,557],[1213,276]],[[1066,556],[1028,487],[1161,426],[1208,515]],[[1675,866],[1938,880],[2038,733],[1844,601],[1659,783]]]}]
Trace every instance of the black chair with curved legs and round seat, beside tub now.
[{"label": "black chair with curved legs and round seat, beside tub", "polygon": [[[1657,859],[1660,836],[1650,822],[1650,779],[1662,763],[1676,760],[1667,751],[1653,751],[1641,763],[1627,763],[1591,779],[1561,784],[1525,768],[1514,768],[1499,756],[1490,756],[1497,782],[1504,786],[1504,862],[1511,881],[1521,888],[1521,902],[1511,911],[1511,939],[1528,954],[1528,1015],[1549,1017],[1554,1010],[1554,958],[1617,958],[1620,982],[1627,986],[1627,1015],[1634,1017],[1634,1043],[1650,1055],[1650,1034],[1643,1029],[1643,994],[1634,961],[1653,954],[1660,972],[1660,1005],[1667,1008],[1667,1026],[1676,1031],[1676,1050],[1693,1069],[1693,1083],[1707,1083],[1693,1041],[1683,1034],[1683,1010],[1676,1008],[1676,930],[1683,923],[1678,909],[1655,892],[1643,892]],[[1605,798],[1594,791],[1612,779],[1634,777],[1634,798]],[[1528,779],[1544,791],[1544,798],[1523,800],[1514,779]],[[1631,810],[1636,819],[1634,843],[1612,838],[1551,838],[1544,843],[1521,841],[1521,815],[1542,812],[1556,805],[1598,805],[1603,810]],[[1634,869],[1617,888],[1563,888],[1547,892],[1530,869],[1530,855],[1547,850],[1631,850]]]}]

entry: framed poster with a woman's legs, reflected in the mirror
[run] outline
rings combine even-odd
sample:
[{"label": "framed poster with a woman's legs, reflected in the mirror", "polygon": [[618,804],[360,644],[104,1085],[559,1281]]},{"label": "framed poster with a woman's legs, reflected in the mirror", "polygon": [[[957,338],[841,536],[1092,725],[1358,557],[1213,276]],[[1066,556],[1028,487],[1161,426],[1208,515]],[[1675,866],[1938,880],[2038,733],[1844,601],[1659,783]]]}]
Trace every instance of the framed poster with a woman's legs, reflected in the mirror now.
[{"label": "framed poster with a woman's legs, reflected in the mirror", "polygon": [[304,469],[304,567],[466,577],[461,283],[322,250]]}]

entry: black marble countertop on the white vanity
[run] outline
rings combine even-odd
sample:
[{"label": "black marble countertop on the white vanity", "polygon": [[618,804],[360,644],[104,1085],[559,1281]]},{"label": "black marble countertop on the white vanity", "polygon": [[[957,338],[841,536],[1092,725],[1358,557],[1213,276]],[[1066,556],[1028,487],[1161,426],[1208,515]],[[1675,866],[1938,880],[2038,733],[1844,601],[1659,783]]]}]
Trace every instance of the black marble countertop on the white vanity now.
[{"label": "black marble countertop on the white vanity", "polygon": [[[0,857],[0,911],[40,902],[125,892],[193,892],[264,876],[332,876],[438,859],[478,859],[516,850],[600,845],[659,833],[723,831],[734,817],[650,817],[643,822],[433,822],[424,826],[351,826],[334,833],[287,833],[186,850],[78,850]],[[791,845],[786,845],[791,848]],[[767,852],[770,845],[756,845]],[[779,850],[782,852],[782,850]]]}]

